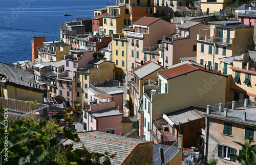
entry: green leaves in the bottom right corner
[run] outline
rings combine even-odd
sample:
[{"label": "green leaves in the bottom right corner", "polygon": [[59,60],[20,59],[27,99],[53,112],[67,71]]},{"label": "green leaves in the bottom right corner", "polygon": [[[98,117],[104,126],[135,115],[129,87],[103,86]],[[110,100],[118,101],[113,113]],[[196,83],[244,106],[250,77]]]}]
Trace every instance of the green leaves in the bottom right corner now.
[{"label": "green leaves in the bottom right corner", "polygon": [[[231,156],[236,156],[238,161],[243,165],[248,165],[251,162],[256,162],[256,145],[251,145],[251,142],[252,142],[251,136],[247,138],[244,145],[239,142],[234,142],[242,146],[242,153],[240,155],[232,154]],[[251,159],[249,159],[251,152],[253,156]]]}]

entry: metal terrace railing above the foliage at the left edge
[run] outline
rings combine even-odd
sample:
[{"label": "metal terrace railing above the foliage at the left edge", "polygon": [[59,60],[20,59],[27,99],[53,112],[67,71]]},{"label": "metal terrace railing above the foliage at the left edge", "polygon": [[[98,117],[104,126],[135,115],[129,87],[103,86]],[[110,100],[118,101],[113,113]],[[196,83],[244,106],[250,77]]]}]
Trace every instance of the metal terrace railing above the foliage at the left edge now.
[{"label": "metal terrace railing above the foliage at the left edge", "polygon": [[11,120],[17,119],[18,116],[20,116],[20,119],[25,117],[32,117],[32,119],[44,118],[49,114],[49,105],[46,104],[0,98],[0,105],[8,108],[8,118]]}]

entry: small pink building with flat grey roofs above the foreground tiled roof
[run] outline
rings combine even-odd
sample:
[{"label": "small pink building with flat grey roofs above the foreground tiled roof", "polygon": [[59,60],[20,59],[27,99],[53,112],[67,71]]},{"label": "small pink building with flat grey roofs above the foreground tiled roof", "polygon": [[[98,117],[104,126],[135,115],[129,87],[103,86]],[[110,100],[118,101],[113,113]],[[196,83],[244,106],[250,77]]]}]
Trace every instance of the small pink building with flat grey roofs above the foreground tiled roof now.
[{"label": "small pink building with flat grey roofs above the foreground tiled roof", "polygon": [[120,135],[123,113],[115,107],[113,96],[106,93],[94,96],[90,110],[83,111],[83,130],[98,130]]}]

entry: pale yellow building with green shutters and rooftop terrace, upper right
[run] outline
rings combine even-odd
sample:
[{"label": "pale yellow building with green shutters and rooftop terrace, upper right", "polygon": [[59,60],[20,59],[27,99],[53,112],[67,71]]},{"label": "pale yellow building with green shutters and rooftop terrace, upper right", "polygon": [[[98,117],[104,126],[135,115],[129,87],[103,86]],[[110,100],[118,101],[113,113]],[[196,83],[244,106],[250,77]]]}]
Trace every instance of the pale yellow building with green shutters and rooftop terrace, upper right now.
[{"label": "pale yellow building with green shutters and rooftop terrace, upper right", "polygon": [[253,27],[239,21],[208,23],[197,36],[197,63],[221,70],[219,58],[241,55],[252,49]]}]

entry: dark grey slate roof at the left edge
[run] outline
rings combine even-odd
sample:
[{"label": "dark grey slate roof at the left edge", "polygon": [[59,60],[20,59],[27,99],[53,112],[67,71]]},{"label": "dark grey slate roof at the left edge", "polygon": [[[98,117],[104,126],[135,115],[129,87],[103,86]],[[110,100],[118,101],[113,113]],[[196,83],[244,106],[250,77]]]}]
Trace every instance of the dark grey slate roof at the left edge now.
[{"label": "dark grey slate roof at the left edge", "polygon": [[[41,92],[44,92],[46,90],[41,85],[36,85],[33,87],[33,84],[35,84],[35,77],[33,73],[27,72],[26,70],[19,69],[16,67],[13,67],[11,65],[8,65],[6,63],[0,62],[0,75],[4,75],[6,80],[0,80],[0,82],[11,84],[14,83],[16,85],[22,85],[23,87],[29,87],[31,90],[34,91],[34,89],[39,90]],[[22,79],[20,78],[22,76]],[[15,86],[16,86],[15,85]]]}]

